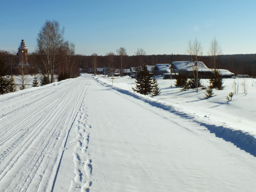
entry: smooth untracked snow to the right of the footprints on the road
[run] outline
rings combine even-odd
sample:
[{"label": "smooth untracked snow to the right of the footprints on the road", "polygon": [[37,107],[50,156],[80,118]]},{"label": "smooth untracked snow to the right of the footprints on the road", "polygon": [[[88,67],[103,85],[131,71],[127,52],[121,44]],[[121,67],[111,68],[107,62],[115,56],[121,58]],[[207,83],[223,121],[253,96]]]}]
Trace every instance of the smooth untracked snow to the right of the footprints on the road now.
[{"label": "smooth untracked snow to the right of the footprints on the road", "polygon": [[[104,138],[93,140],[91,146],[97,156],[95,191],[251,191],[255,187],[254,157],[210,134],[193,114],[188,116],[182,109],[170,113],[149,96],[97,80],[109,91],[104,91],[106,100],[91,102],[102,106],[100,111],[88,106],[100,119],[91,122],[92,137]],[[117,100],[116,95],[122,97]],[[117,119],[110,114],[121,115]]]}]

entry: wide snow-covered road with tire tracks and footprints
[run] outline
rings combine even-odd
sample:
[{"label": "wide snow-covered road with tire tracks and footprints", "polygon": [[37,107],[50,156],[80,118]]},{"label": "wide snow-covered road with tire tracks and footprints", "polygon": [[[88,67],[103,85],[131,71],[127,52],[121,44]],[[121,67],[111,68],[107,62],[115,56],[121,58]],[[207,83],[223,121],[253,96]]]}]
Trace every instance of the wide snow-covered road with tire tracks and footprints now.
[{"label": "wide snow-covered road with tire tracks and footprints", "polygon": [[255,163],[90,75],[0,96],[0,191],[254,191]]}]

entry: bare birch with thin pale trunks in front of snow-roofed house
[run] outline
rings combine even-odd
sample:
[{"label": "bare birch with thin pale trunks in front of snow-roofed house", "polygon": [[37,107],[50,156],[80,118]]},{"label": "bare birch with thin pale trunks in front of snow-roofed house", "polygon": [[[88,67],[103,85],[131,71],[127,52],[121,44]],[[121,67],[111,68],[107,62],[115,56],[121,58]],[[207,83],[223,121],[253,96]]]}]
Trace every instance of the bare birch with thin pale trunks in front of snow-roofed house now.
[{"label": "bare birch with thin pale trunks in front of snow-roofed house", "polygon": [[[196,92],[198,92],[198,69],[199,69],[199,65],[200,63],[198,63],[198,56],[199,54],[202,55],[202,46],[201,43],[198,42],[198,40],[195,37],[195,40],[193,42],[191,42],[190,40],[188,41],[188,48],[187,48],[187,52],[188,54],[191,56],[191,67],[192,67],[192,71],[193,71],[193,76],[194,76],[194,83],[195,83],[195,87],[196,87]],[[193,58],[195,59],[195,63],[193,63]],[[202,63],[201,63],[201,67],[202,67]]]}]

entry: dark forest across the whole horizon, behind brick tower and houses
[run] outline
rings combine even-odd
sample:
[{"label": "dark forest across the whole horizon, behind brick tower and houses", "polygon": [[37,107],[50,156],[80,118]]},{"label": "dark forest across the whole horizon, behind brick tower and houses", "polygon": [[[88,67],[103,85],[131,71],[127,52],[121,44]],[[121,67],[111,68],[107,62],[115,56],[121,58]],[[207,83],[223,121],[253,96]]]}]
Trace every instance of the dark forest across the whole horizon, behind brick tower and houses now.
[{"label": "dark forest across the whole horizon, behind brick tower and houses", "polygon": [[[13,55],[8,52],[2,51],[3,56],[6,58],[6,68],[7,74],[10,75],[10,63]],[[62,63],[64,61],[60,59],[57,61],[55,74],[58,74]],[[124,56],[123,59],[123,69],[129,69],[130,67],[139,66],[140,56],[139,55],[131,55]],[[210,56],[199,56],[199,61],[203,61],[204,64],[208,68],[212,68],[210,66]],[[70,62],[72,61],[72,70],[78,71],[78,69],[83,69],[87,72],[87,69],[92,66],[92,56],[86,55],[70,55]],[[147,65],[156,65],[161,63],[170,64],[173,61],[191,61],[190,55],[143,55],[142,62]],[[14,63],[18,63],[18,61],[12,61]],[[40,55],[37,53],[31,53],[28,55],[28,63],[29,63],[29,74],[39,73],[42,68],[42,61]],[[233,72],[235,75],[249,75],[252,77],[256,77],[256,54],[237,54],[237,55],[219,55],[218,56],[218,67],[219,69],[227,69]],[[108,55],[102,56],[97,55],[97,68],[108,67],[109,58]],[[118,55],[114,55],[113,66],[115,69],[120,69],[120,58]],[[75,72],[76,73],[76,72]],[[79,72],[77,72],[79,73]]]}]

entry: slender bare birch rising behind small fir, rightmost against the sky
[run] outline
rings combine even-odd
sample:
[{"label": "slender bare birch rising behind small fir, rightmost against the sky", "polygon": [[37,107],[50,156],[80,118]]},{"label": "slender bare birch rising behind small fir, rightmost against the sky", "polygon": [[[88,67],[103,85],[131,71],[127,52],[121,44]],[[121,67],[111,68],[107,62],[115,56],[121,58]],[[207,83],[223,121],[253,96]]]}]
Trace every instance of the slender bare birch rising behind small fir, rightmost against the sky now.
[{"label": "slender bare birch rising behind small fir, rightmost against the sky", "polygon": [[216,40],[215,37],[213,37],[211,43],[210,43],[210,47],[209,47],[209,51],[208,54],[210,56],[210,61],[211,61],[211,68],[212,69],[217,69],[219,67],[219,55],[221,55],[221,48],[220,48],[220,44],[219,42]]}]

